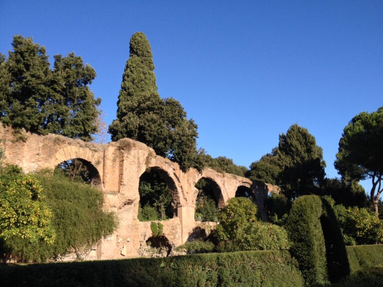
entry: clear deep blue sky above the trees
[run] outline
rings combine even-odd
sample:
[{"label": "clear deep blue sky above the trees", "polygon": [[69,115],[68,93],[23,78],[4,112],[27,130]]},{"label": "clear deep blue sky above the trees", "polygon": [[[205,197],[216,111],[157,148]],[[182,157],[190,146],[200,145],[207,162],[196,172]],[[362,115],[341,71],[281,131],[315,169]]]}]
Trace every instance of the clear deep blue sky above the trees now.
[{"label": "clear deep blue sky above the trees", "polygon": [[0,52],[21,34],[51,63],[82,56],[108,125],[137,31],[151,43],[161,97],[179,100],[198,125],[198,146],[239,165],[297,123],[335,177],[344,127],[383,106],[382,0],[0,0]]}]

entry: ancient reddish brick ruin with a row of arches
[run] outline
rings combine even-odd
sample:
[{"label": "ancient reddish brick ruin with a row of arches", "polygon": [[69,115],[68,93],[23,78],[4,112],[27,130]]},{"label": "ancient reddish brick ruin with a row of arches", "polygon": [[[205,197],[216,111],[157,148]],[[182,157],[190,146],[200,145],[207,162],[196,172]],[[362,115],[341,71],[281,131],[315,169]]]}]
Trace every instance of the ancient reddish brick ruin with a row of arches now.
[{"label": "ancient reddish brick ruin with a row of arches", "polygon": [[114,211],[119,220],[115,233],[102,239],[87,259],[122,259],[142,255],[140,250],[152,232],[151,222],[141,222],[137,218],[140,200],[138,187],[140,176],[150,168],[160,171],[172,190],[175,216],[161,222],[164,225],[164,236],[172,246],[185,243],[195,228],[208,227],[208,223],[194,220],[198,194],[194,185],[200,178],[214,182],[221,207],[235,196],[238,187],[249,188],[261,211],[267,193],[278,192],[276,186],[255,184],[248,178],[212,169],[204,169],[202,172],[190,169],[185,173],[177,163],[157,156],[146,144],[131,139],[97,144],[52,134],[38,136],[25,133],[26,141],[17,141],[12,130],[2,126],[0,135],[5,161],[17,164],[24,172],[54,169],[62,161],[74,158],[87,163],[94,184],[103,192],[104,207]]}]

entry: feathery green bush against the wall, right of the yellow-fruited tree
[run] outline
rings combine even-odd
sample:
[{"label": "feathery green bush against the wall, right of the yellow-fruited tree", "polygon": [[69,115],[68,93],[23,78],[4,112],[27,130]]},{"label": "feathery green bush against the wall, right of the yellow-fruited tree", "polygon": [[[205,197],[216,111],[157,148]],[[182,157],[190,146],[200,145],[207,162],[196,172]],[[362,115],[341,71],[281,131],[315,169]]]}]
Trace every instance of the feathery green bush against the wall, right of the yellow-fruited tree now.
[{"label": "feathery green bush against the wall, right of the yellow-fruited tree", "polygon": [[41,172],[34,175],[44,190],[44,202],[53,213],[55,241],[30,243],[12,240],[11,247],[23,262],[44,262],[75,252],[79,259],[116,227],[115,216],[102,210],[103,195],[90,185],[68,180],[63,175]]}]

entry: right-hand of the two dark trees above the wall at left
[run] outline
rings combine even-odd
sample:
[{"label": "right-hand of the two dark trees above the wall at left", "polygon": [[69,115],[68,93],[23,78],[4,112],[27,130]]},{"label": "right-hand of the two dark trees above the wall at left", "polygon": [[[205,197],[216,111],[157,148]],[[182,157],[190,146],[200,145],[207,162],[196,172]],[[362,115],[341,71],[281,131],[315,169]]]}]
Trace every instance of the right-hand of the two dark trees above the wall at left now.
[{"label": "right-hand of the two dark trees above the wall at left", "polygon": [[91,141],[98,130],[98,106],[89,85],[96,77],[95,70],[84,65],[73,52],[54,56],[52,90],[49,101],[53,107],[46,118],[45,129],[73,139]]}]

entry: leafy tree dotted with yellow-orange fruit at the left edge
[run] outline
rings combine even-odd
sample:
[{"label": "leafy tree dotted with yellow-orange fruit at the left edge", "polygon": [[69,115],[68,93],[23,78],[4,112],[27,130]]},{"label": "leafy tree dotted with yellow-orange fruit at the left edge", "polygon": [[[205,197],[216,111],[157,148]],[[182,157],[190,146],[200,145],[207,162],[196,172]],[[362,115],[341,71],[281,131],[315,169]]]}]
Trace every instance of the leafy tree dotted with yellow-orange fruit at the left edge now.
[{"label": "leafy tree dotted with yellow-orange fruit at the left edge", "polygon": [[[36,177],[21,174],[9,166],[0,172],[0,257],[19,251],[16,241],[43,242],[51,246],[57,234],[52,212],[44,201],[44,192]],[[14,258],[15,256],[13,256]]]}]

